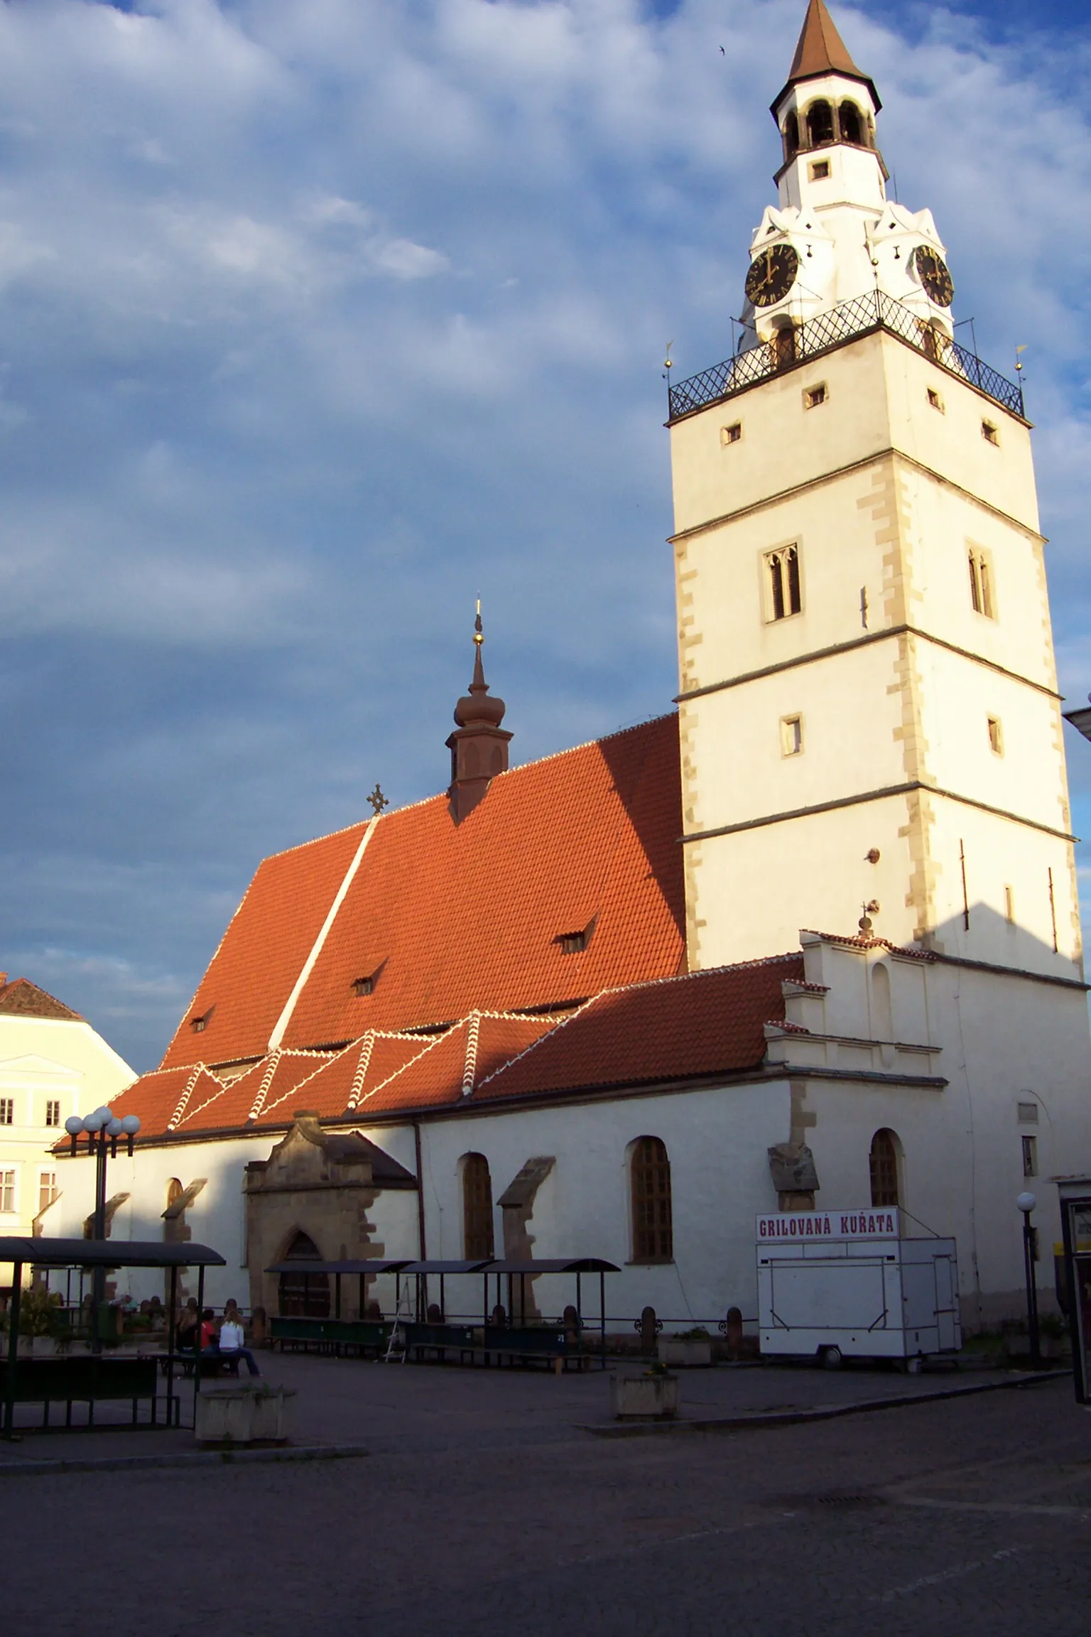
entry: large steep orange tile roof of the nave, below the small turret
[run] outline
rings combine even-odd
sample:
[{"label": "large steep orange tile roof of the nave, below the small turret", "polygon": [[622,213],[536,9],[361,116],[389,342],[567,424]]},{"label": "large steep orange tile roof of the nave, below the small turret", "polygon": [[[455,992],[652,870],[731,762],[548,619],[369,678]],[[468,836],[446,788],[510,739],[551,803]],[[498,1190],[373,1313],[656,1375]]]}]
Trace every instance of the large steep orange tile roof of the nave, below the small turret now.
[{"label": "large steep orange tile roof of the nave, below the small turret", "polygon": [[[319,1048],[368,1030],[514,1012],[674,976],[684,964],[677,717],[496,778],[455,825],[442,796],[267,858],[164,1067],[260,1059],[337,895],[283,1035]],[[564,933],[590,928],[564,954]],[[375,977],[358,995],[355,979]],[[204,1018],[198,1033],[193,1018]]]}]

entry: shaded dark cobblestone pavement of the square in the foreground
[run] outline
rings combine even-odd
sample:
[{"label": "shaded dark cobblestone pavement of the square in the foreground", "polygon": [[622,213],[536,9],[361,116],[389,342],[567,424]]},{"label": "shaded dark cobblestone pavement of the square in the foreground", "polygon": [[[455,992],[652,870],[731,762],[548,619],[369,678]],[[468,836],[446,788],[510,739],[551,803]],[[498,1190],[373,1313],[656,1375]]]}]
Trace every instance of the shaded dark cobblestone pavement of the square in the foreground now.
[{"label": "shaded dark cobblestone pavement of the square in the foreground", "polygon": [[[530,1377],[507,1400],[497,1382],[491,1436],[474,1396],[473,1413],[448,1414],[455,1429],[435,1419],[424,1447],[422,1405],[399,1411],[394,1395],[415,1401],[432,1382],[438,1408],[447,1378],[406,1372],[388,1385],[389,1447],[366,1459],[5,1480],[5,1629],[1084,1637],[1091,1627],[1091,1416],[1065,1378],[854,1419],[608,1442],[556,1416],[520,1436],[523,1395],[548,1405],[556,1385]],[[396,1447],[399,1414],[415,1429]]]}]

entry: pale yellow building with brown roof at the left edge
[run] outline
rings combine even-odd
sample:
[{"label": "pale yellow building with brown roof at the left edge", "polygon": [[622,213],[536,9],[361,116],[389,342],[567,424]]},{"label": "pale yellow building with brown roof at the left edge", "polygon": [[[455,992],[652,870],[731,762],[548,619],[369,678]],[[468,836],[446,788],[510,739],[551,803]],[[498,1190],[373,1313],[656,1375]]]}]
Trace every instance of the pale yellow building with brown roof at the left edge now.
[{"label": "pale yellow building with brown roof at the left edge", "polygon": [[[79,1012],[0,972],[0,1234],[57,1231],[49,1216],[62,1174],[52,1148],[64,1121],[131,1084],[129,1064]],[[0,1292],[10,1283],[11,1267],[0,1262]]]}]

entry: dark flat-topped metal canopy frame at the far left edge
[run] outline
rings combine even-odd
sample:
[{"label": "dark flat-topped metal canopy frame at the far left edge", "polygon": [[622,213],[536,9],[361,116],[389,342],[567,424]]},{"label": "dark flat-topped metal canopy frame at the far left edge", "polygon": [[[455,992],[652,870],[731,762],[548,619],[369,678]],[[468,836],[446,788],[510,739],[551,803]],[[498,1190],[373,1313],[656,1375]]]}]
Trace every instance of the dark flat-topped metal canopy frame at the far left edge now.
[{"label": "dark flat-topped metal canopy frame at the far left edge", "polygon": [[[0,1262],[11,1262],[11,1306],[8,1310],[8,1369],[3,1396],[3,1437],[15,1437],[15,1383],[20,1351],[20,1305],[23,1267],[164,1267],[170,1269],[170,1313],[167,1318],[167,1426],[175,1387],[175,1313],[178,1269],[198,1269],[198,1313],[204,1311],[204,1269],[226,1267],[227,1260],[206,1244],[159,1244],[154,1239],[28,1239],[0,1238]],[[200,1333],[198,1333],[200,1334]],[[200,1388],[200,1352],[193,1359],[193,1396]],[[93,1408],[93,1400],[90,1400]],[[177,1424],[177,1423],[175,1423]]]}]

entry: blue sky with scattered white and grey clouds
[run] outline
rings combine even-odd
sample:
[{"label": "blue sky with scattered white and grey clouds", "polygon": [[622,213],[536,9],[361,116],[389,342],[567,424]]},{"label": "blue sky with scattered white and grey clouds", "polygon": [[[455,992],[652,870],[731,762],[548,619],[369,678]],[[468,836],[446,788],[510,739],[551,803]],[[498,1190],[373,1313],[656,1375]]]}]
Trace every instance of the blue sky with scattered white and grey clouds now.
[{"label": "blue sky with scattered white and grey clouds", "polygon": [[[517,760],[669,706],[662,349],[730,350],[803,8],[0,8],[0,966],[136,1067],[265,853],[443,786],[478,591]],[[1080,702],[1091,28],[833,10],[1027,344]]]}]

